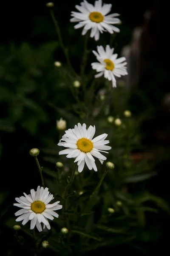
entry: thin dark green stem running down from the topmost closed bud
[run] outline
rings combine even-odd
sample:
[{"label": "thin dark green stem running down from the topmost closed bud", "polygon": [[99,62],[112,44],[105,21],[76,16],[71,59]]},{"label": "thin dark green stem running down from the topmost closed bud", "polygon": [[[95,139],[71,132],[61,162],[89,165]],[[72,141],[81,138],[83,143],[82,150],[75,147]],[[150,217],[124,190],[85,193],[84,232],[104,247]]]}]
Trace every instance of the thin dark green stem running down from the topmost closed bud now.
[{"label": "thin dark green stem running down from the topmost closed bud", "polygon": [[61,32],[60,32],[60,29],[59,29],[58,21],[56,20],[55,15],[54,15],[54,11],[50,10],[50,14],[51,14],[52,20],[54,22],[54,26],[55,26],[58,38],[59,38],[59,44],[62,47],[62,50],[65,54],[65,58],[67,60],[68,67],[70,68],[70,70],[74,74],[74,76],[78,76],[77,73],[75,72],[74,68],[71,65],[70,58],[68,56],[68,50],[65,48],[64,43],[62,41]]}]

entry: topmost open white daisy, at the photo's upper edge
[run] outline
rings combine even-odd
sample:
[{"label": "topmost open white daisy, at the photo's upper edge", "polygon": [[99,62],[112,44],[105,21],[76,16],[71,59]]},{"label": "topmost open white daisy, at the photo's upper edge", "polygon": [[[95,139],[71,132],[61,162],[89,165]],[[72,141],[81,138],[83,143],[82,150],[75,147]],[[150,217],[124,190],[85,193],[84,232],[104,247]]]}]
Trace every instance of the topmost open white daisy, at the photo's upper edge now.
[{"label": "topmost open white daisy, at the photo's upper edge", "polygon": [[[99,32],[108,31],[113,34],[113,32],[120,32],[120,29],[116,28],[112,24],[119,24],[121,21],[118,13],[113,13],[107,15],[111,11],[111,4],[103,4],[102,0],[95,1],[94,6],[84,0],[80,3],[80,6],[76,5],[76,9],[79,12],[71,12],[71,22],[79,22],[74,26],[75,29],[79,29],[84,26],[82,30],[82,35],[85,35],[89,29],[91,29],[90,37],[97,41],[99,40]],[[107,16],[106,16],[107,15]]]}]

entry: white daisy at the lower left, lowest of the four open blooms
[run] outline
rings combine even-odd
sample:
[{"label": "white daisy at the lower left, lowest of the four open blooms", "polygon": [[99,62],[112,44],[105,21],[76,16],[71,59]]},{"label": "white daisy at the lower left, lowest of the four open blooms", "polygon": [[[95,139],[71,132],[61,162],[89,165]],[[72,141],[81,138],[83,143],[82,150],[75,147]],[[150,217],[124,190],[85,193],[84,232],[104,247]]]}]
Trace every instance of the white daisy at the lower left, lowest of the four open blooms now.
[{"label": "white daisy at the lower left, lowest of the four open blooms", "polygon": [[[53,220],[54,217],[58,218],[58,214],[54,212],[62,208],[59,201],[49,204],[49,202],[54,199],[53,195],[48,192],[48,188],[37,187],[37,191],[31,189],[31,194],[20,198],[15,198],[19,204],[14,204],[14,206],[23,208],[15,213],[15,216],[19,216],[16,221],[23,221],[22,224],[25,225],[28,221],[31,221],[30,229],[34,229],[35,225],[38,231],[42,231],[41,223],[43,223],[43,228],[45,226],[50,230],[50,224],[47,219]],[[54,217],[53,217],[54,216]]]}]

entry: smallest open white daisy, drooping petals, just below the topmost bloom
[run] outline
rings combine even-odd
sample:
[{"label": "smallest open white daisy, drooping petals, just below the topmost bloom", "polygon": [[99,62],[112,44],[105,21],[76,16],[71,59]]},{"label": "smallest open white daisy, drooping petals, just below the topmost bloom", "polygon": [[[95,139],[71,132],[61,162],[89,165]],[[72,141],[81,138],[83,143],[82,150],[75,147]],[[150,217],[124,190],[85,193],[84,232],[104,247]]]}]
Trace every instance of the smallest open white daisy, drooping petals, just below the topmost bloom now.
[{"label": "smallest open white daisy, drooping petals, just below the topmost bloom", "polygon": [[101,46],[97,46],[97,51],[93,51],[94,55],[96,55],[96,59],[99,62],[94,62],[91,64],[92,69],[99,72],[99,74],[95,75],[95,77],[103,76],[112,81],[113,87],[116,87],[116,79],[115,76],[121,77],[127,75],[127,64],[126,58],[121,57],[117,58],[117,54],[113,54],[114,48],[110,48],[109,45],[106,45],[106,50]]}]

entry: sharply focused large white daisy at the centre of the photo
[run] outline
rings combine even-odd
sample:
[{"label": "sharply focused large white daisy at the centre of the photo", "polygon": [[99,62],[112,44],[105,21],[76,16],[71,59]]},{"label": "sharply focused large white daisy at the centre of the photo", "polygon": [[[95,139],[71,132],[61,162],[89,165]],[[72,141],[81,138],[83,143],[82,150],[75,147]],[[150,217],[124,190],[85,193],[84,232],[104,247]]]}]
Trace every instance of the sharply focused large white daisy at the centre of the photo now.
[{"label": "sharply focused large white daisy at the centre of the photo", "polygon": [[[95,131],[95,126],[90,125],[87,130],[85,124],[78,123],[78,125],[74,126],[74,129],[65,131],[58,143],[59,146],[67,148],[59,151],[59,155],[67,154],[66,157],[68,158],[76,157],[74,163],[77,162],[79,172],[82,172],[85,163],[89,170],[94,169],[97,172],[94,157],[97,157],[100,163],[103,163],[106,157],[100,152],[108,153],[103,150],[111,149],[110,146],[105,145],[109,143],[109,140],[105,140],[108,134],[102,134],[93,139]],[[62,140],[64,142],[61,142]]]}]

